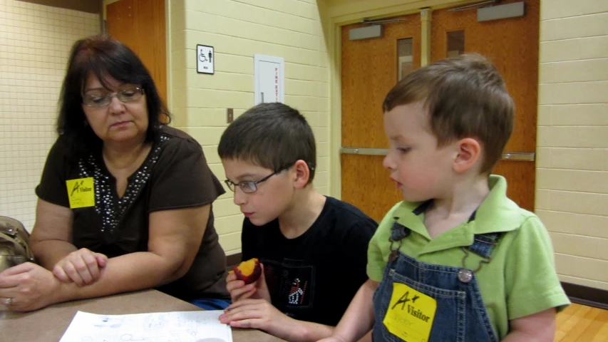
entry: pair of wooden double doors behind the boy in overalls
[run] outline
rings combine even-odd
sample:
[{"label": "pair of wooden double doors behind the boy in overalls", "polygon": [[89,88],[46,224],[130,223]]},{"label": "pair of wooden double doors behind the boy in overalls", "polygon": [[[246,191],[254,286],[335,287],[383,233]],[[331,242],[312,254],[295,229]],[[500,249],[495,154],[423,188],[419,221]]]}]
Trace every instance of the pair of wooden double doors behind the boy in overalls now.
[{"label": "pair of wooden double doors behind the boy in overalls", "polygon": [[[505,152],[533,153],[536,148],[540,6],[539,0],[525,3],[524,17],[488,22],[478,22],[475,9],[432,12],[433,61],[452,56],[452,48],[448,53],[448,33],[458,38],[454,32],[463,31],[463,51],[487,56],[503,74],[516,106],[515,130]],[[385,24],[383,38],[367,41],[349,41],[349,29],[361,24],[342,28],[342,147],[388,148],[381,103],[397,81],[398,38],[413,38],[412,67],[417,68],[420,61],[420,16],[405,18],[405,22]],[[388,171],[382,167],[382,155],[342,154],[340,159],[344,201],[380,220],[401,200]],[[525,209],[534,209],[534,162],[501,160],[493,173],[507,178],[511,199]]]}]

